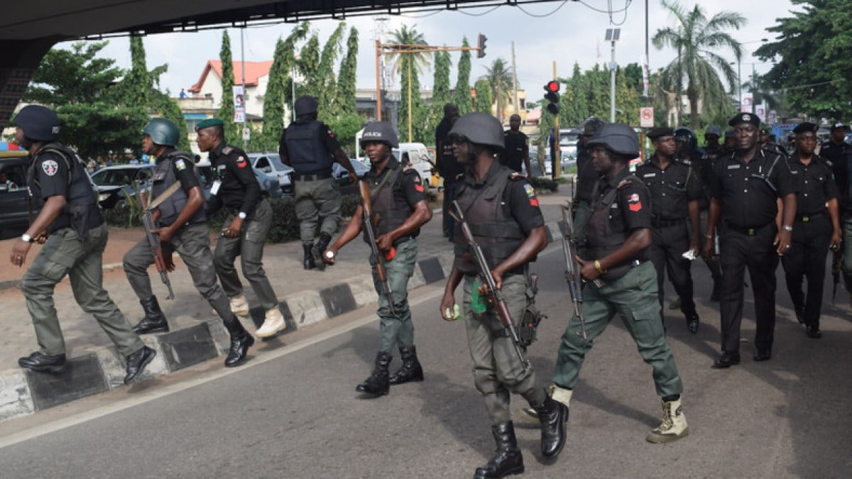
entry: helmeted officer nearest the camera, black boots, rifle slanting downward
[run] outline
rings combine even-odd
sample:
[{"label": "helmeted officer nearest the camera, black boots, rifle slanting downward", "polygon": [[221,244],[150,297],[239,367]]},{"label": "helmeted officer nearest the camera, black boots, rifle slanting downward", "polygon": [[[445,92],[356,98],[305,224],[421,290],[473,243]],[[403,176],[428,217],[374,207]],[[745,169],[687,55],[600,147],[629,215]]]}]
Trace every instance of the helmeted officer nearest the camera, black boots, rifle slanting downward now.
[{"label": "helmeted officer nearest the camera, black boots, rifle slanting downward", "polygon": [[[538,198],[525,176],[499,164],[496,157],[504,148],[504,138],[497,118],[469,113],[458,119],[450,136],[453,153],[466,168],[458,204],[518,325],[529,301],[529,263],[547,245]],[[453,291],[464,280],[462,315],[474,363],[474,383],[485,400],[497,442],[496,455],[476,470],[475,477],[503,477],[524,470],[509,412],[509,392],[523,396],[538,413],[545,458],[556,458],[565,445],[567,408],[550,399],[538,386],[533,367],[524,366],[517,357],[508,330],[481,298],[486,286],[479,284],[478,269],[470,255],[468,243],[458,231],[456,257],[440,313],[444,320],[458,319]]]}]

